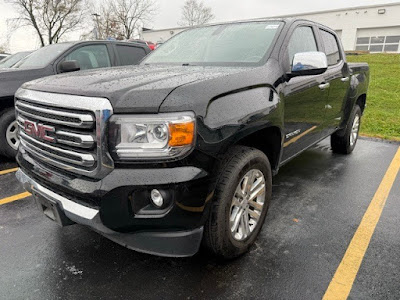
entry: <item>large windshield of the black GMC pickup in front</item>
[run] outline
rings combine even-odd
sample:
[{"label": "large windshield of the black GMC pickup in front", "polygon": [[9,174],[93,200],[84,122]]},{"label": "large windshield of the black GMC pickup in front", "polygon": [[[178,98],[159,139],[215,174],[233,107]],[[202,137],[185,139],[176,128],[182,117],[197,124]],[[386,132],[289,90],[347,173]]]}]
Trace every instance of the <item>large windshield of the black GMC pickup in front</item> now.
[{"label": "large windshield of the black GMC pickup in front", "polygon": [[259,63],[282,22],[214,25],[184,31],[152,52],[143,64],[229,65]]}]

